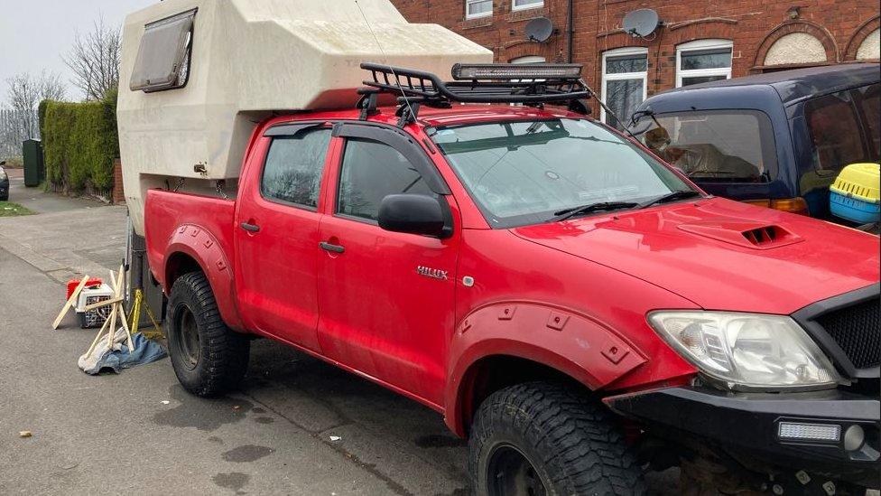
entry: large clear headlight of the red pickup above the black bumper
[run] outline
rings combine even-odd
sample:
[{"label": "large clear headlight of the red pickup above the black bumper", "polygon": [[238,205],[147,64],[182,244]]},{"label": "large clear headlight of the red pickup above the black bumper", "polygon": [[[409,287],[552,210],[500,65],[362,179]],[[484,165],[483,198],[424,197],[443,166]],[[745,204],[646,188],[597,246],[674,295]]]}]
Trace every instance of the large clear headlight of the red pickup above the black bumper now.
[{"label": "large clear headlight of the red pickup above the black bumper", "polygon": [[826,355],[783,315],[661,311],[648,321],[686,360],[728,388],[818,388],[840,381]]}]

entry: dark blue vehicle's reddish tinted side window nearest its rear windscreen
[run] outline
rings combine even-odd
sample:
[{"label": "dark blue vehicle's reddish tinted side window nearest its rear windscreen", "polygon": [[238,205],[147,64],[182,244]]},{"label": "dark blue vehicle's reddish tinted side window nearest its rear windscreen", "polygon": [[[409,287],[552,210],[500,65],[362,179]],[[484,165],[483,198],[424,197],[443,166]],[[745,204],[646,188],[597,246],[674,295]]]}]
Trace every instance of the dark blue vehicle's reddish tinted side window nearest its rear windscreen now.
[{"label": "dark blue vehicle's reddish tinted side window nearest its rear windscreen", "polygon": [[811,134],[815,169],[839,171],[865,159],[859,121],[847,92],[808,100],[804,117]]}]

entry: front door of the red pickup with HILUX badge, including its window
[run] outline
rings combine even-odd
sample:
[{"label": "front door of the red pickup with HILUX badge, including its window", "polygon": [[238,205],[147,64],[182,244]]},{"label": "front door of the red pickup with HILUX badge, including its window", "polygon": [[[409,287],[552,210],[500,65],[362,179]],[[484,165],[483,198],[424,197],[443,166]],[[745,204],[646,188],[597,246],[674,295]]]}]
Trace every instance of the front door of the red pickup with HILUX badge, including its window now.
[{"label": "front door of the red pickup with HILUX badge, including its window", "polygon": [[345,143],[332,176],[336,198],[320,227],[321,350],[440,404],[454,327],[459,229],[448,239],[391,232],[379,227],[377,214],[394,193],[446,202],[439,194],[446,184],[422,148],[397,131],[347,125],[338,135]]}]

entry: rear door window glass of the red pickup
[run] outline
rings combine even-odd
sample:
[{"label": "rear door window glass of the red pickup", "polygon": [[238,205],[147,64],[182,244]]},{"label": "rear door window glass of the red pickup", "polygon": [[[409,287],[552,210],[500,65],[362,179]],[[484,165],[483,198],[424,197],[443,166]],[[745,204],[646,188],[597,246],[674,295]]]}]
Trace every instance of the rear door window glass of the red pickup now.
[{"label": "rear door window glass of the red pickup", "polygon": [[329,143],[325,128],[274,138],[260,183],[264,197],[317,208]]}]

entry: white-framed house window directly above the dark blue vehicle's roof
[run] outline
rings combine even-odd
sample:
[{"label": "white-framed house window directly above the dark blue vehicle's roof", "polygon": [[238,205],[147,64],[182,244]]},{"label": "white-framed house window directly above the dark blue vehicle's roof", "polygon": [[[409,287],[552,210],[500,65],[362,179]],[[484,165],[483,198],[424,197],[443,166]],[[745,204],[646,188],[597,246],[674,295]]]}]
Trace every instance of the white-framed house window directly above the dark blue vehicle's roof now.
[{"label": "white-framed house window directly above the dark blue vehicle's roof", "polygon": [[731,78],[728,40],[696,40],[676,47],[676,87]]}]

